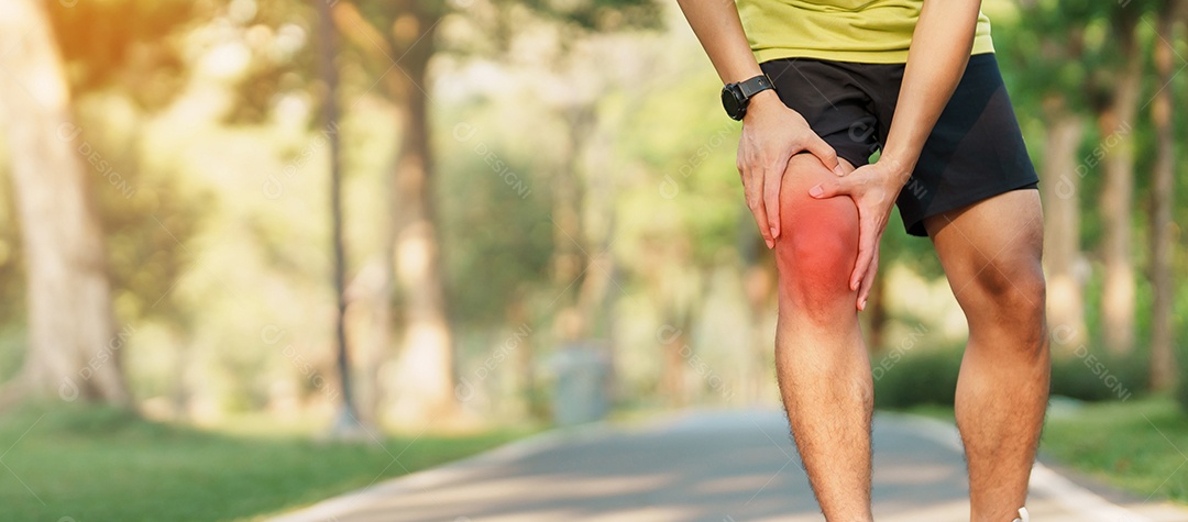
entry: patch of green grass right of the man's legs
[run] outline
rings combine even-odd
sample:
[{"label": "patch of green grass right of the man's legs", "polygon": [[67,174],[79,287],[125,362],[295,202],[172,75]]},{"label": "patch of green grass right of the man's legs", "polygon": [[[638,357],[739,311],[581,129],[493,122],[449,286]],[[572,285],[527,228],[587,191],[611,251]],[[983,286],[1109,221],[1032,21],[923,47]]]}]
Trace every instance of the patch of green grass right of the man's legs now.
[{"label": "patch of green grass right of the man's legs", "polygon": [[1142,497],[1188,502],[1188,415],[1170,399],[1051,415],[1041,452]]}]

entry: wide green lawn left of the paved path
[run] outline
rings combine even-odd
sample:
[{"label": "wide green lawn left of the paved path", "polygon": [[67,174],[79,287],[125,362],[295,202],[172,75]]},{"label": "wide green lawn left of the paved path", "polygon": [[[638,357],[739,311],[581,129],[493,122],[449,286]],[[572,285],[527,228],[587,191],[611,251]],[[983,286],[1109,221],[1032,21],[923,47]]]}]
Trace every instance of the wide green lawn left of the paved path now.
[{"label": "wide green lawn left of the paved path", "polygon": [[526,433],[391,437],[380,447],[201,431],[107,408],[2,412],[0,520],[261,520]]}]

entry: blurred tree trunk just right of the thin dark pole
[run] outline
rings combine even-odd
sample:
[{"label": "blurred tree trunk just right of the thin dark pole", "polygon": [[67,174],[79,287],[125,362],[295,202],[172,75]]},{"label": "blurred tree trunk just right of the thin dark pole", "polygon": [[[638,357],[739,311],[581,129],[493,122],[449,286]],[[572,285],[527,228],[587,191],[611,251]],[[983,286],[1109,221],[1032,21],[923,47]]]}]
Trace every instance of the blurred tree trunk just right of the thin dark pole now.
[{"label": "blurred tree trunk just right of the thin dark pole", "polygon": [[[399,63],[386,78],[399,104],[400,155],[396,161],[396,287],[404,312],[396,397],[400,416],[428,424],[457,412],[454,348],[446,317],[440,241],[432,205],[426,68],[437,19],[412,6],[396,17],[391,47]],[[399,70],[396,70],[396,69]]]}]

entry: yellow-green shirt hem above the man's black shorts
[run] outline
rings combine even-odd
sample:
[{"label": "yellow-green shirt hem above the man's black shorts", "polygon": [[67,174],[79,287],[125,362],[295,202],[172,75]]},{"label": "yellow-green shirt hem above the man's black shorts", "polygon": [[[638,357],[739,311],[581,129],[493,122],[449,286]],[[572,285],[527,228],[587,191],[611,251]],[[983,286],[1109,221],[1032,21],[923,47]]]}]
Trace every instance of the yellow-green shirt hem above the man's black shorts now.
[{"label": "yellow-green shirt hem above the man's black shorts", "polygon": [[[905,63],[923,0],[737,0],[759,63],[778,58]],[[979,13],[972,55],[993,52]]]}]

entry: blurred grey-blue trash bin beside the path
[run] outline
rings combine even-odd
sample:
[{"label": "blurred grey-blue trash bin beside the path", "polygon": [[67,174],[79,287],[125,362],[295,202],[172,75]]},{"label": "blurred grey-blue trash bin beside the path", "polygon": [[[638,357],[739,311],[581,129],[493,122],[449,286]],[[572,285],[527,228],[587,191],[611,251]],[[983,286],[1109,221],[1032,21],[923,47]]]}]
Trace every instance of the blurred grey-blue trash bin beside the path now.
[{"label": "blurred grey-blue trash bin beside the path", "polygon": [[609,363],[602,350],[588,345],[563,348],[552,359],[552,421],[557,426],[593,422],[606,416]]}]

